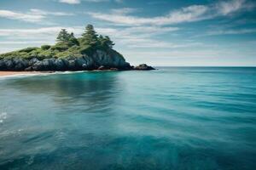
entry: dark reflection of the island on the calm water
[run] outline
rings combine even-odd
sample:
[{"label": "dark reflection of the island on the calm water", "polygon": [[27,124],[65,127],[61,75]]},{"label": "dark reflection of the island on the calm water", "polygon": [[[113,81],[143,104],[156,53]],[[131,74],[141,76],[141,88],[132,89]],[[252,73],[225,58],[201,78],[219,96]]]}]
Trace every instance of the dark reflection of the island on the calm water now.
[{"label": "dark reflection of the island on the calm water", "polygon": [[[87,106],[86,111],[96,107],[108,108],[119,96],[116,73],[95,72],[49,77],[27,77],[10,80],[6,86],[27,95],[48,95],[60,107]],[[113,90],[114,89],[114,90]],[[62,108],[63,109],[63,108]],[[76,108],[78,109],[78,108]]]}]

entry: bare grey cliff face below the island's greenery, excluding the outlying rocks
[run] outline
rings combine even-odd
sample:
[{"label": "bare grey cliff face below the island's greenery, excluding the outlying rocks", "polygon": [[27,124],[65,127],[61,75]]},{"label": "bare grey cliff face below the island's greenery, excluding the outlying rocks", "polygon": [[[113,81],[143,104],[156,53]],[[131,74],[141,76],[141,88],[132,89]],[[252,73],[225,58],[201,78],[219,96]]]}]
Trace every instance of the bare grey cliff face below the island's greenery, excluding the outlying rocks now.
[{"label": "bare grey cliff face below the island's greenery, excluding the outlying rocks", "polygon": [[124,57],[114,50],[105,52],[96,50],[90,56],[83,54],[69,56],[66,58],[50,58],[39,60],[37,57],[32,59],[22,59],[15,57],[12,59],[0,60],[0,71],[90,71],[96,70],[100,66],[116,68],[119,70],[130,70],[131,65]]}]

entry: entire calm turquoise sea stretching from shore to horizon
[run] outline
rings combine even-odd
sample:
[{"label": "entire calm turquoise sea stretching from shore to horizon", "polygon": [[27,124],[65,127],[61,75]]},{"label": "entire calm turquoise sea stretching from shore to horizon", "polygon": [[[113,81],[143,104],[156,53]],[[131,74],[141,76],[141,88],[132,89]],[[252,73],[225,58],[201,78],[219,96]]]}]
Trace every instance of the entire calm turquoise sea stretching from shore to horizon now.
[{"label": "entire calm turquoise sea stretching from shore to horizon", "polygon": [[0,169],[255,169],[256,68],[0,78]]}]

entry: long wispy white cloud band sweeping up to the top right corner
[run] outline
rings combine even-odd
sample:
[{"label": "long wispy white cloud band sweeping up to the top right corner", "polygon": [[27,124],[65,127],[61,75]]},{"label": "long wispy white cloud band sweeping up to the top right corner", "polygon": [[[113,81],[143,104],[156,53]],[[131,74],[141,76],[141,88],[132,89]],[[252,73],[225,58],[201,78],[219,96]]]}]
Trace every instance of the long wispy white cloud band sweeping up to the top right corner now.
[{"label": "long wispy white cloud band sweeping up to the top right corner", "polygon": [[[97,20],[104,20],[114,24],[127,26],[141,26],[141,25],[172,25],[183,22],[193,22],[198,20],[207,20],[220,15],[233,14],[243,9],[254,8],[255,5],[247,3],[246,0],[230,0],[225,2],[214,3],[210,5],[192,5],[185,8],[180,8],[171,11],[169,14],[156,17],[137,17],[128,15],[128,13],[103,14],[103,13],[89,13],[91,17]],[[128,11],[131,13],[131,11]]]}]

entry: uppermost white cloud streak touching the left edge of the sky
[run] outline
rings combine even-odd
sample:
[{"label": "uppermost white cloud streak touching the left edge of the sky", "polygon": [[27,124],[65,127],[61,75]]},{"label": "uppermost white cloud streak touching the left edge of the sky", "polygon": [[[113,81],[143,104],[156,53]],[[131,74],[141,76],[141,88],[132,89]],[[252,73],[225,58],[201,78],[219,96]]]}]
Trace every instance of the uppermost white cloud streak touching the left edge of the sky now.
[{"label": "uppermost white cloud streak touching the left edge of the sky", "polygon": [[10,19],[10,20],[22,20],[26,22],[32,22],[32,23],[39,23],[47,16],[49,15],[55,15],[55,16],[67,16],[67,15],[73,15],[70,13],[63,13],[63,12],[49,12],[44,11],[38,8],[32,8],[26,13],[22,12],[15,12],[11,10],[0,10],[0,17]]}]

